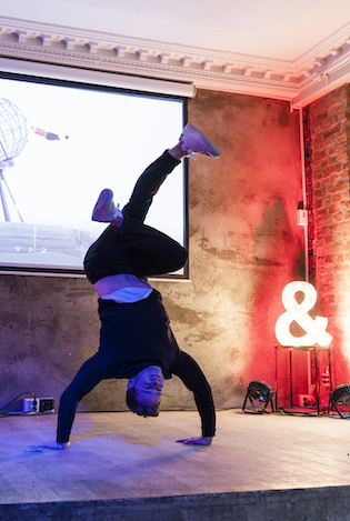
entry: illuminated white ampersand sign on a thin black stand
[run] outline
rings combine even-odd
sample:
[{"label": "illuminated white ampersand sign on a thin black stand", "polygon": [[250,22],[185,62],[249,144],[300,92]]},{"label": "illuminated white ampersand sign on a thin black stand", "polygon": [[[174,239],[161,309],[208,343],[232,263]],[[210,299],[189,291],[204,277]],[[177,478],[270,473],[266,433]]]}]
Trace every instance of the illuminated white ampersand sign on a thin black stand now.
[{"label": "illuminated white ampersand sign on a thin black stand", "polygon": [[[296,294],[302,292],[304,299],[301,303],[296,300]],[[326,328],[328,319],[326,317],[316,317],[312,319],[308,311],[313,308],[317,301],[317,292],[312,284],[304,281],[294,281],[286,285],[282,291],[282,302],[286,313],[276,322],[274,333],[281,345],[290,345],[293,348],[319,345],[327,348],[332,341]],[[297,322],[306,334],[303,337],[294,337],[290,331],[292,322]]]}]

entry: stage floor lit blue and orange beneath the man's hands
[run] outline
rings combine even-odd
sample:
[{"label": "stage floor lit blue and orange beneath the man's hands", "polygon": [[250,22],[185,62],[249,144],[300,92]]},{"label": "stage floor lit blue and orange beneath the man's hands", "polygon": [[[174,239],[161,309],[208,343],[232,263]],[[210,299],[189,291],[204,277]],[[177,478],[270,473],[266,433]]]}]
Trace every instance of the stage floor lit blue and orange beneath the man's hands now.
[{"label": "stage floor lit blue and orange beneath the man's hands", "polygon": [[[129,519],[78,513],[41,517],[41,511],[30,518],[23,510],[23,505],[31,510],[44,503],[111,504],[110,500],[137,499],[140,504],[147,499],[150,505],[151,499],[159,498],[208,499],[260,491],[261,499],[261,491],[324,489],[329,493],[330,488],[336,488],[334,498],[338,492],[350,497],[349,420],[219,411],[213,443],[198,447],[176,442],[199,434],[197,412],[161,412],[156,419],[129,412],[78,413],[69,450],[33,451],[31,445],[54,439],[56,421],[57,414],[0,418],[1,520]],[[11,518],[16,505],[22,513]],[[200,519],[250,520],[247,515]]]}]

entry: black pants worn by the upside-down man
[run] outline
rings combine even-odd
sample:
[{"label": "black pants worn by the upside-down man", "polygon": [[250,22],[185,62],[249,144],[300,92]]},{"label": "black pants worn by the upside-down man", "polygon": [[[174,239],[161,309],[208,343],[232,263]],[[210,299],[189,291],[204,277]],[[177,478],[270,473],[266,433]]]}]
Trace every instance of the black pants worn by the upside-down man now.
[{"label": "black pants worn by the upside-down man", "polygon": [[117,273],[146,278],[184,265],[187,251],[170,237],[143,224],[153,196],[177,164],[179,161],[164,152],[144,170],[122,210],[121,228],[109,226],[87,252],[84,270],[90,282]]}]

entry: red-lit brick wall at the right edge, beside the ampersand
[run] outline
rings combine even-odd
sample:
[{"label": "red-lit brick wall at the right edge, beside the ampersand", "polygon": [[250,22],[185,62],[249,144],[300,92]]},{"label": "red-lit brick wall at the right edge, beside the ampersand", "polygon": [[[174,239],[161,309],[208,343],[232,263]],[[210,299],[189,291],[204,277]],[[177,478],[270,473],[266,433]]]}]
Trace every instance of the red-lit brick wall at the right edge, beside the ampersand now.
[{"label": "red-lit brick wall at the right edge, beside the ampersand", "polygon": [[334,337],[334,387],[350,374],[350,84],[308,106],[303,120],[310,281]]}]

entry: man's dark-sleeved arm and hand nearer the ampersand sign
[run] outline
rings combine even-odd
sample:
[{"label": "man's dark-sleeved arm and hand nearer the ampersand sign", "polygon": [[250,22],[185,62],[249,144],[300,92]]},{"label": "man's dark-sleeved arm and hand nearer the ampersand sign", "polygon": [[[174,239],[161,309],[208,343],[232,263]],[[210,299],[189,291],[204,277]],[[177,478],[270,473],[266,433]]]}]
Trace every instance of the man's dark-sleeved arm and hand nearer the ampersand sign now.
[{"label": "man's dark-sleeved arm and hand nearer the ampersand sign", "polygon": [[189,354],[180,351],[179,363],[173,372],[193,392],[196,405],[201,418],[202,435],[178,440],[187,444],[209,445],[216,434],[216,410],[210,385],[198,363]]}]

